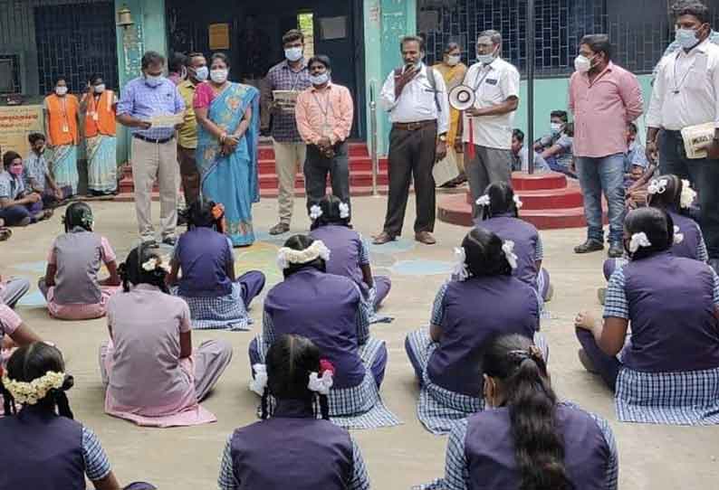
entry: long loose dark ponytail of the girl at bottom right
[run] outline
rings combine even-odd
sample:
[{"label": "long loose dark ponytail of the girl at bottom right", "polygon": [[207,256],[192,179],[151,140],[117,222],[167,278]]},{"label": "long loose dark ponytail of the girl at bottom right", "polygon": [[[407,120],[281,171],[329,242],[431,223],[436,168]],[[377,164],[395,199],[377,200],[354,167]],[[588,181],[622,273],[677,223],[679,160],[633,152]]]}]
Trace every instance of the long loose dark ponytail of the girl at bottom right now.
[{"label": "long loose dark ponytail of the girl at bottom right", "polygon": [[484,374],[501,383],[509,410],[521,490],[574,488],[564,466],[564,438],[557,430],[557,396],[547,364],[522,335],[495,338],[484,352]]}]

